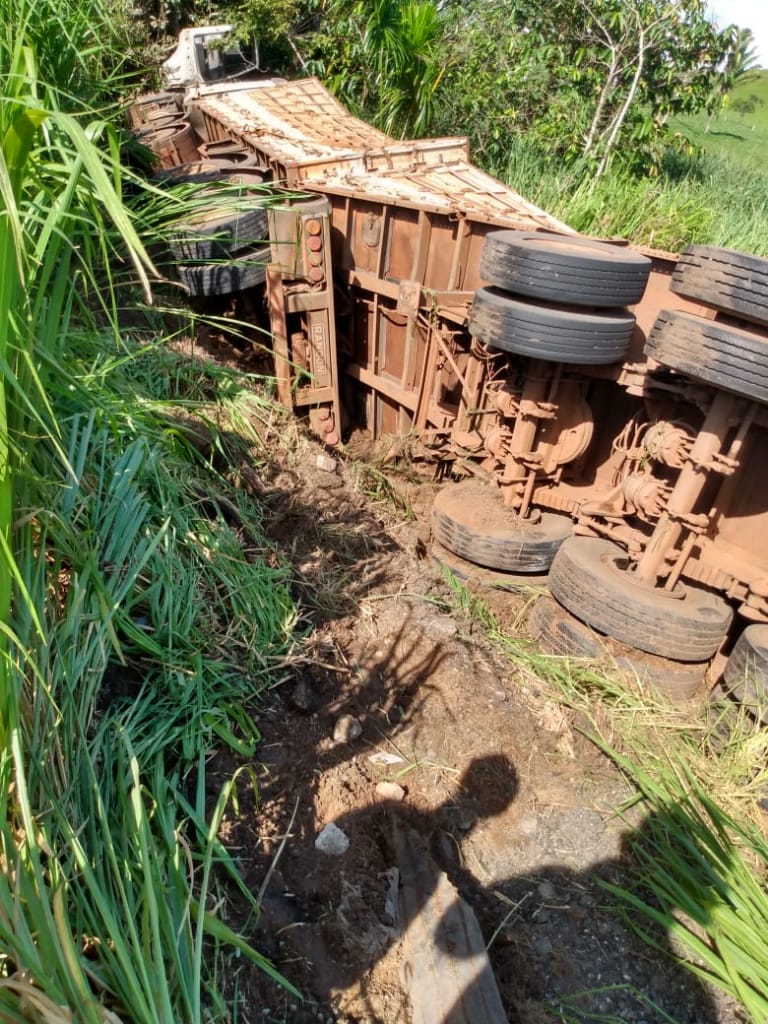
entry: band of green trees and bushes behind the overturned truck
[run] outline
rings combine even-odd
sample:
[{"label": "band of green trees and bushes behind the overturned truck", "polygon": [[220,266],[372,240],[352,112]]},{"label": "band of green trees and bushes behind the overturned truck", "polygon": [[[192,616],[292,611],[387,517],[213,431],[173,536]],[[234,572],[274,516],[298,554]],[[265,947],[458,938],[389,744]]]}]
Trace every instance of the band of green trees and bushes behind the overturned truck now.
[{"label": "band of green trees and bushes behind the overturned truck", "polygon": [[[171,10],[169,31],[196,20]],[[749,34],[705,0],[223,0],[217,18],[265,70],[316,74],[395,136],[466,134],[492,170],[521,134],[598,175],[647,170],[669,118],[722,105],[750,67]]]}]

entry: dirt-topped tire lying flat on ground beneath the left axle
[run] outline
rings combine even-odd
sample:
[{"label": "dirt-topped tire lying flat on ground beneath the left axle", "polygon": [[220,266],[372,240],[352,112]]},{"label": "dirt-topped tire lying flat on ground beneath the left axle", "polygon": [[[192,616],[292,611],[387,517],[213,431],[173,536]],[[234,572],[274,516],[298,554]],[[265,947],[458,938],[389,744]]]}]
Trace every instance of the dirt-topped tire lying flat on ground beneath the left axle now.
[{"label": "dirt-topped tire lying flat on ground beneath the left axle", "polygon": [[443,548],[486,568],[546,572],[572,530],[566,516],[520,521],[493,484],[465,480],[443,487],[432,508],[432,536]]}]

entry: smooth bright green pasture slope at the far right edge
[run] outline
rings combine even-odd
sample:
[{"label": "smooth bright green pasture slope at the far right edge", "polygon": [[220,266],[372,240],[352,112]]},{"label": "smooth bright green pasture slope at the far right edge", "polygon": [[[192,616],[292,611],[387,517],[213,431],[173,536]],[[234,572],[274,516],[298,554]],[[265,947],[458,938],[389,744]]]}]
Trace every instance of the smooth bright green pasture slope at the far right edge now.
[{"label": "smooth bright green pasture slope at the far right edge", "polygon": [[[725,108],[714,118],[705,114],[675,118],[671,127],[697,148],[714,157],[765,169],[768,164],[768,71],[755,73],[728,97]],[[754,97],[754,98],[753,98]],[[740,103],[755,102],[754,111]]]}]

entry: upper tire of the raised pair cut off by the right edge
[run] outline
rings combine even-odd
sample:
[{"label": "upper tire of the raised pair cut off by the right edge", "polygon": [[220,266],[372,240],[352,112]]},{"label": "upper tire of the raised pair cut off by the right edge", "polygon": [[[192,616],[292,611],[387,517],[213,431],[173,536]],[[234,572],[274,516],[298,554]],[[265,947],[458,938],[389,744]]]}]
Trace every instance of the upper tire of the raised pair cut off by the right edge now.
[{"label": "upper tire of the raised pair cut off by the right edge", "polygon": [[732,249],[690,246],[672,274],[672,291],[768,326],[768,260]]}]

